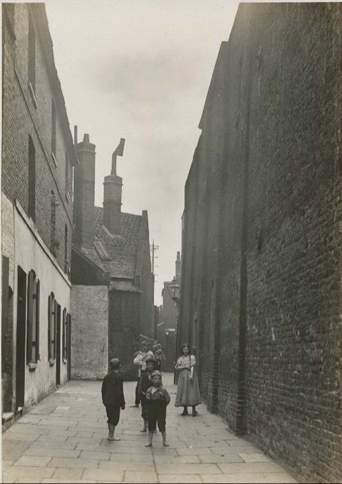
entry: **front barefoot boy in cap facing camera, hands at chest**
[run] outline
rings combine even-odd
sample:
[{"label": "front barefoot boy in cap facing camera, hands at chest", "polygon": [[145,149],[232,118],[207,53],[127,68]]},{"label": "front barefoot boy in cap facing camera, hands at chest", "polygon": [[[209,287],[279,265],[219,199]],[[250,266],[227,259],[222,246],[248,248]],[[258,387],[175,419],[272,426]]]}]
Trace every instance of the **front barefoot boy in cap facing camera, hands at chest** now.
[{"label": "front barefoot boy in cap facing camera, hands at chest", "polygon": [[162,434],[162,445],[169,447],[166,441],[166,407],[170,403],[170,395],[167,389],[162,386],[162,374],[160,371],[152,373],[153,386],[146,391],[147,418],[148,418],[148,444],[145,447],[152,447],[153,433],[158,428]]}]

